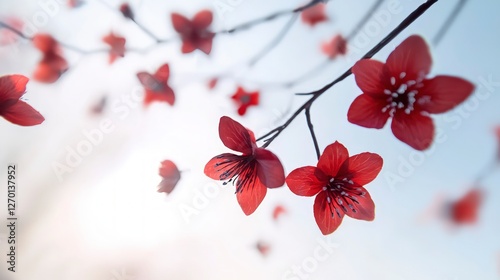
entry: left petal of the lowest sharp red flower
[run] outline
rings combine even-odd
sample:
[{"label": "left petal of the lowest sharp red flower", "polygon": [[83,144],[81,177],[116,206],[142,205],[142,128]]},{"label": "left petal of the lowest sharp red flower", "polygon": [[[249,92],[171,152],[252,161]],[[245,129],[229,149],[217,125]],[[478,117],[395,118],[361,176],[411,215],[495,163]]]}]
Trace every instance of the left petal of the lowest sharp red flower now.
[{"label": "left petal of the lowest sharp red flower", "polygon": [[314,166],[304,166],[290,172],[286,184],[296,195],[313,196],[328,184],[328,177]]}]

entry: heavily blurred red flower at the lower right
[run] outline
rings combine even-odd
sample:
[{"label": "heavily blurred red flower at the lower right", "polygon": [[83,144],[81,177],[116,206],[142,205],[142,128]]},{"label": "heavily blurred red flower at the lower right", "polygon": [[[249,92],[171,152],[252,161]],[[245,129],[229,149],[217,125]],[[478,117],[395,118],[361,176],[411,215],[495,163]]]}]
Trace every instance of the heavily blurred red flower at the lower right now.
[{"label": "heavily blurred red flower at the lower right", "polygon": [[451,203],[449,206],[449,218],[457,225],[476,223],[482,201],[483,192],[481,189],[471,189],[464,197]]}]

